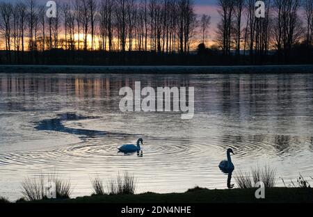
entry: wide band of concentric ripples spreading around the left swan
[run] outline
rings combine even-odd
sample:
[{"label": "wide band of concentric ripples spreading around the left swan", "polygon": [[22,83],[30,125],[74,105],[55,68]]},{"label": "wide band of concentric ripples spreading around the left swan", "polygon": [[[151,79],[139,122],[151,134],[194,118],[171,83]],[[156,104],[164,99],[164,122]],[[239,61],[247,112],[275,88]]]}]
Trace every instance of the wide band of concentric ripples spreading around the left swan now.
[{"label": "wide band of concentric ripples spreading around the left swan", "polygon": [[[275,143],[278,138],[284,143]],[[232,148],[236,159],[246,159],[262,156],[266,152],[267,156],[289,156],[288,150],[301,153],[305,147],[300,143],[311,138],[300,138],[298,136],[224,136],[223,138],[144,138],[143,162],[147,164],[157,163],[158,165],[171,162],[179,164],[188,162],[189,166],[199,162],[208,163],[225,158],[225,150]],[[59,147],[56,150],[45,152],[14,152],[0,154],[0,165],[34,165],[47,164],[58,165],[59,163],[75,162],[88,163],[90,159],[99,161],[98,165],[108,166],[118,163],[121,159],[127,159],[129,163],[136,163],[136,157],[123,156],[118,153],[117,148],[122,144],[120,140],[131,140],[129,136],[117,136],[111,138],[93,138],[84,140],[81,143]],[[105,161],[104,161],[105,160]],[[104,163],[102,163],[104,162]],[[209,167],[209,165],[207,165]],[[69,168],[70,170],[70,168]],[[178,170],[178,168],[177,168]]]}]

